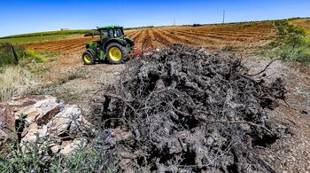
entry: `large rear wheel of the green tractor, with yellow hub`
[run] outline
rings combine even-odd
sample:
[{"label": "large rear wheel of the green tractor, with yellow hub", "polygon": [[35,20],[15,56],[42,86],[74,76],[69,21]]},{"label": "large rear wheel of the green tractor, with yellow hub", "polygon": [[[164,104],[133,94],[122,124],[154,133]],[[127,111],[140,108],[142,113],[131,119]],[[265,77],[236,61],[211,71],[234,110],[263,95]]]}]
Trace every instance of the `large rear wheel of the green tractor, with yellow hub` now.
[{"label": "large rear wheel of the green tractor, with yellow hub", "polygon": [[128,52],[119,43],[110,43],[106,48],[106,58],[111,64],[120,64],[127,59]]}]

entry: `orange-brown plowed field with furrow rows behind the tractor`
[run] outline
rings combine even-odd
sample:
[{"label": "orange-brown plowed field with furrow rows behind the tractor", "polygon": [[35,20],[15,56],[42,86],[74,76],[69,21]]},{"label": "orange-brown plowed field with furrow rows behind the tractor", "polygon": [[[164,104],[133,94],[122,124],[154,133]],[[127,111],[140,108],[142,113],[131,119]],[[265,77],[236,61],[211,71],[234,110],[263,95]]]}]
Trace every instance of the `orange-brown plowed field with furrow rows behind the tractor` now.
[{"label": "orange-brown plowed field with furrow rows behind the tractor", "polygon": [[[137,48],[159,48],[171,43],[187,43],[210,50],[223,48],[247,50],[268,43],[275,37],[273,22],[230,25],[207,25],[199,27],[159,27],[126,30]],[[82,51],[84,44],[98,37],[74,37],[62,40],[27,43],[27,48],[42,51],[70,53]]]}]

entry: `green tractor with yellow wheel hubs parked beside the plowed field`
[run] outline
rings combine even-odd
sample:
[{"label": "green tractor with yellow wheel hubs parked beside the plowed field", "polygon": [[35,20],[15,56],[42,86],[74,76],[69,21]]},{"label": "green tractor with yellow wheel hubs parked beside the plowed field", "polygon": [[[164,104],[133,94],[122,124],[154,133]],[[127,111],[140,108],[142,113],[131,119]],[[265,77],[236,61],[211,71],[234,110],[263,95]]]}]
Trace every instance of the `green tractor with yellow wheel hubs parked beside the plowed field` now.
[{"label": "green tractor with yellow wheel hubs parked beside the plowed field", "polygon": [[124,35],[122,27],[101,27],[96,31],[100,35],[100,39],[86,43],[86,51],[82,54],[85,65],[104,60],[111,64],[120,64],[128,59],[128,54],[134,50],[134,41]]}]

